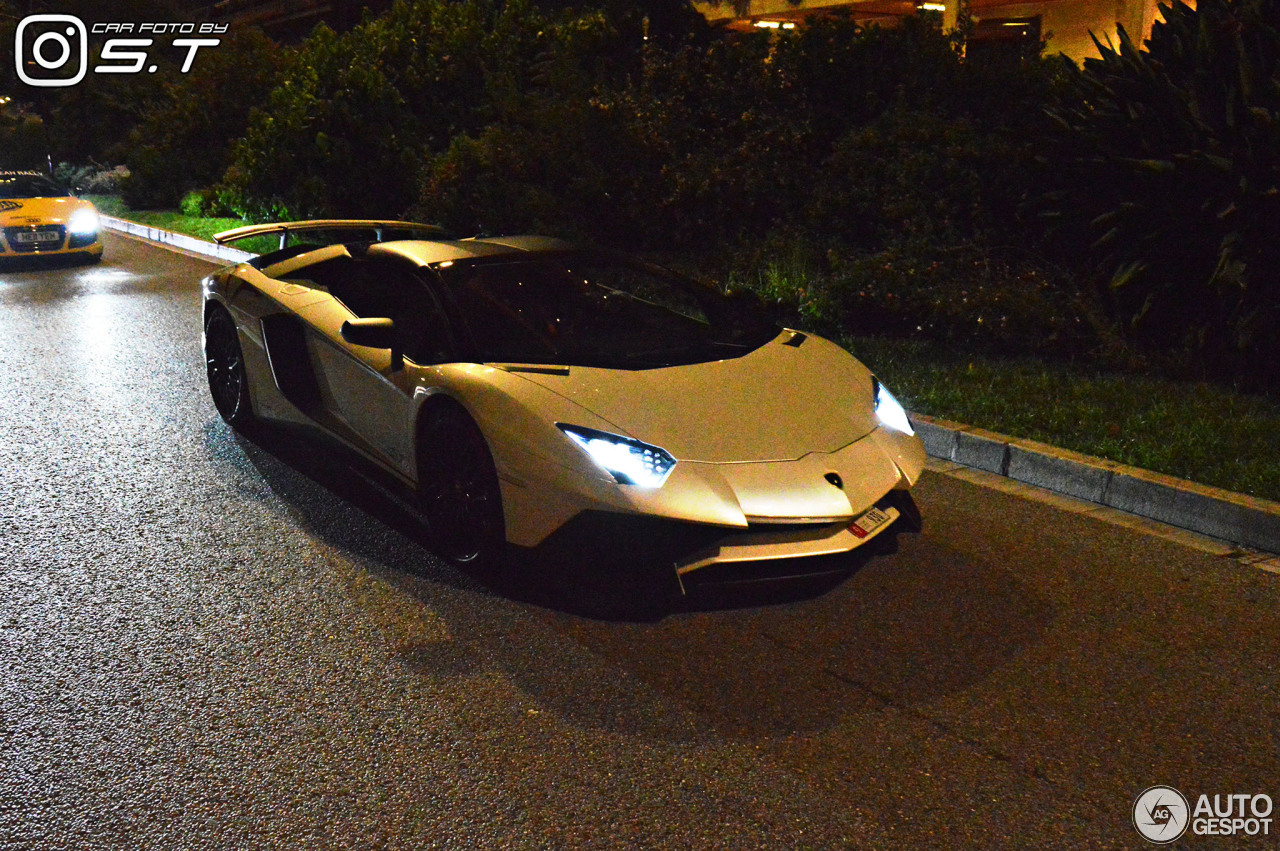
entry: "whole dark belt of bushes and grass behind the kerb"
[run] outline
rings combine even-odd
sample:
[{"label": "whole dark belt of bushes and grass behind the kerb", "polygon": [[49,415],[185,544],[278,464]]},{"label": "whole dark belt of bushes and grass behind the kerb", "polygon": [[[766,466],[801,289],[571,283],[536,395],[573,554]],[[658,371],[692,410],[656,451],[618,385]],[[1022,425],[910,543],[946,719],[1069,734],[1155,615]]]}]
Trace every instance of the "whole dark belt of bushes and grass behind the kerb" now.
[{"label": "whole dark belt of bushes and grass behind the kerb", "polygon": [[[966,60],[931,13],[728,35],[664,0],[401,0],[95,101],[65,159],[123,160],[123,202],[186,215],[131,218],[197,235],[403,216],[644,252],[855,340],[918,411],[1280,499],[1280,0],[1162,14],[1076,65]],[[0,110],[0,159],[91,95],[44,131]]]}]

